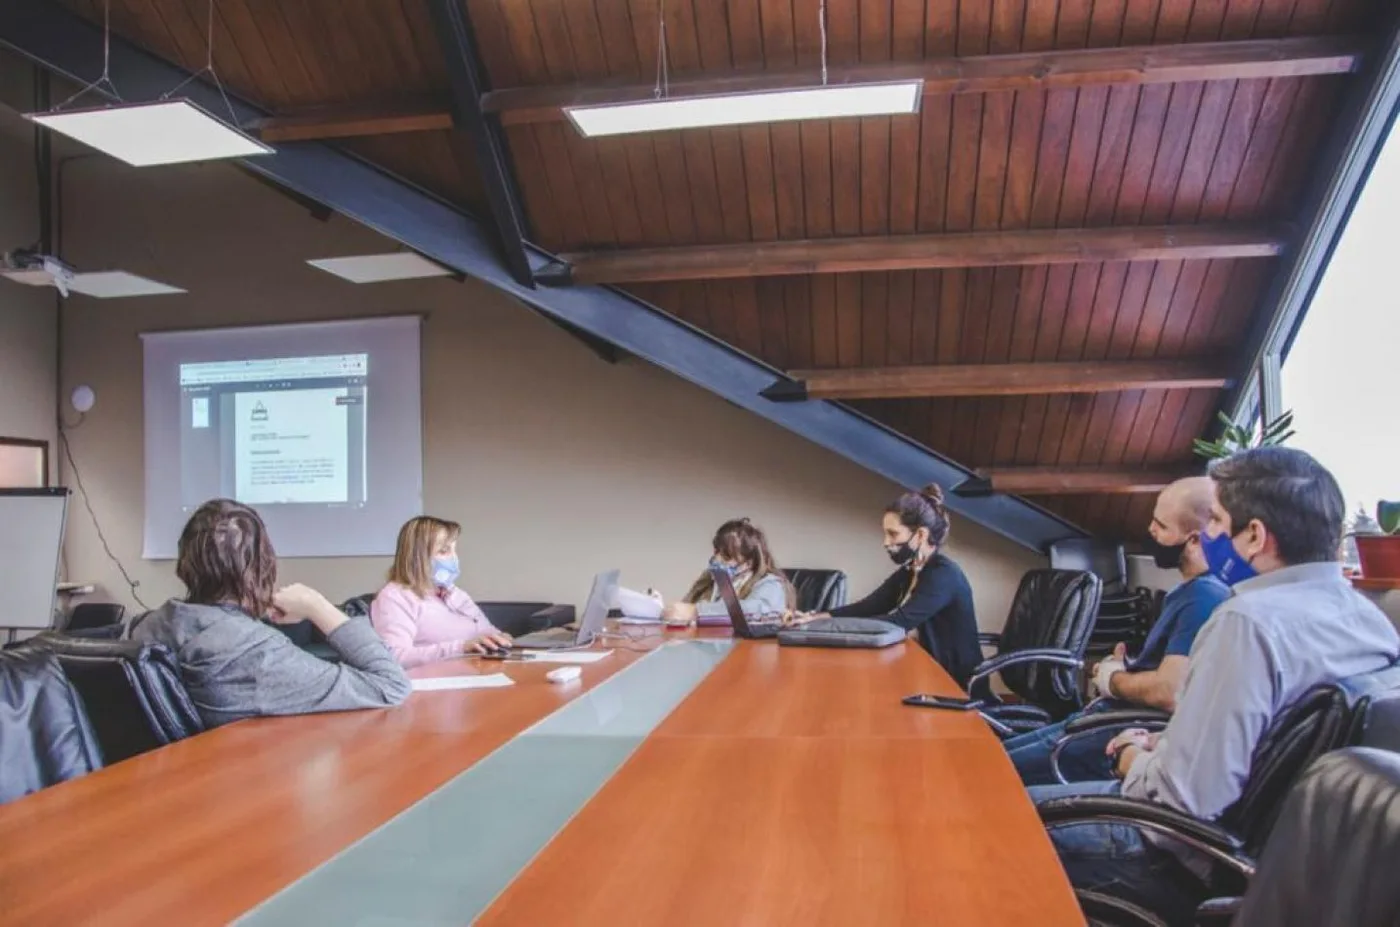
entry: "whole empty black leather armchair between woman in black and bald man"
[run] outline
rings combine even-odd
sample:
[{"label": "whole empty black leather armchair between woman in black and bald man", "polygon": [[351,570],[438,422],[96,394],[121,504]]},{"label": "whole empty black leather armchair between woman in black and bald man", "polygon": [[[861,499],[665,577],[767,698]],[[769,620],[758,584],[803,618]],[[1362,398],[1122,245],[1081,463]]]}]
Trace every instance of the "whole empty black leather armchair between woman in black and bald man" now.
[{"label": "whole empty black leather armchair between woman in black and bald man", "polygon": [[[1058,721],[1082,707],[1079,669],[1099,612],[1102,581],[1082,570],[1030,570],[1011,601],[1000,634],[980,634],[997,655],[979,665],[967,693],[1000,737],[1011,737]],[[991,675],[1023,703],[1004,703],[991,690]]]}]

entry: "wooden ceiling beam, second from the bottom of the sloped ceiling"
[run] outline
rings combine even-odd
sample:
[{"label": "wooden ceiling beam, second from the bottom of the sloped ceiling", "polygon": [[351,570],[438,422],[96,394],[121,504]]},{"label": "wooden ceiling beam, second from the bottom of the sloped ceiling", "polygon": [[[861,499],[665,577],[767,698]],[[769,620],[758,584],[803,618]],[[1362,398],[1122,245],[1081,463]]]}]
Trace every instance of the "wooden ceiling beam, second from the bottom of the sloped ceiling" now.
[{"label": "wooden ceiling beam, second from the bottom of the sloped ceiling", "polygon": [[1231,385],[1226,370],[1228,363],[1214,358],[794,370],[791,381],[778,381],[764,395],[799,400],[1224,389]]}]

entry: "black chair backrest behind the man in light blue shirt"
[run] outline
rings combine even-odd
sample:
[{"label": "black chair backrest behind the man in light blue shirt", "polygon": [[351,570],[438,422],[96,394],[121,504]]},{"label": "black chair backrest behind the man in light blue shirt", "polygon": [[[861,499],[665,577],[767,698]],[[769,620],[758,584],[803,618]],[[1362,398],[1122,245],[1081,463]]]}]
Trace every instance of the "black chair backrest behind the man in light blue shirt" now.
[{"label": "black chair backrest behind the man in light blue shirt", "polygon": [[1249,781],[1221,823],[1257,854],[1288,790],[1317,758],[1358,738],[1379,745],[1400,730],[1400,664],[1313,686],[1274,721],[1250,762]]}]

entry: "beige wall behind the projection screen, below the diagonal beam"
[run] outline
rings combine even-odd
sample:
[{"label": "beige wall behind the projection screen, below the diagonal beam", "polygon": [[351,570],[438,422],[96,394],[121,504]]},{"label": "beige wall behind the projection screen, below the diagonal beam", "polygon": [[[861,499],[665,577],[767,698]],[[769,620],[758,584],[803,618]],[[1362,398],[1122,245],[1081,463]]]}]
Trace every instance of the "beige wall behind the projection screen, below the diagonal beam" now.
[{"label": "beige wall behind the projection screen, below the diagonal beam", "polygon": [[[720,521],[750,515],[792,566],[881,580],[879,513],[896,489],[805,440],[643,361],[608,365],[546,321],[476,281],[354,286],[304,259],[389,249],[349,220],[318,223],[227,167],[137,171],[71,165],[67,253],[189,295],[64,307],[67,384],[97,406],[71,442],[113,552],[147,602],[179,592],[141,550],[143,330],[423,312],[427,508],[465,525],[462,584],[479,598],[578,602],[594,571],[678,595]],[[972,524],[952,553],[984,625],[1001,625],[1037,559]],[[85,518],[70,524],[74,578],[129,601]],[[375,588],[381,559],[297,559],[286,580],[332,598]]]}]

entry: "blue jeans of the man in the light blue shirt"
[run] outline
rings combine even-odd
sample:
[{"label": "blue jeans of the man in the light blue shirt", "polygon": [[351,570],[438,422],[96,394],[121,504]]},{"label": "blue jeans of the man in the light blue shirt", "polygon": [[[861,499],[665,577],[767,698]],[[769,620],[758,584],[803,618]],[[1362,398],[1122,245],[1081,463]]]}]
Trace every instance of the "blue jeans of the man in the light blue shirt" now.
[{"label": "blue jeans of the man in the light blue shirt", "polygon": [[[1072,795],[1116,795],[1119,783],[1035,786],[1030,801]],[[1140,905],[1169,924],[1191,924],[1207,886],[1173,854],[1126,823],[1075,823],[1050,830],[1050,842],[1071,885]]]}]

